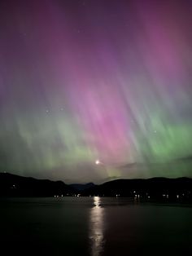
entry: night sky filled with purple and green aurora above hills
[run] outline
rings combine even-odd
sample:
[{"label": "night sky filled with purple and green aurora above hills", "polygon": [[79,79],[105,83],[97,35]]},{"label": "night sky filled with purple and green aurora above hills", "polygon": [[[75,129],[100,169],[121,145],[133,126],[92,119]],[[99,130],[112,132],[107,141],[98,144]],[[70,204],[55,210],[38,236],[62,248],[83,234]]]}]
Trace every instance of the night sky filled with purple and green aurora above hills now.
[{"label": "night sky filled with purple and green aurora above hills", "polygon": [[191,14],[190,0],[1,0],[0,171],[192,177]]}]

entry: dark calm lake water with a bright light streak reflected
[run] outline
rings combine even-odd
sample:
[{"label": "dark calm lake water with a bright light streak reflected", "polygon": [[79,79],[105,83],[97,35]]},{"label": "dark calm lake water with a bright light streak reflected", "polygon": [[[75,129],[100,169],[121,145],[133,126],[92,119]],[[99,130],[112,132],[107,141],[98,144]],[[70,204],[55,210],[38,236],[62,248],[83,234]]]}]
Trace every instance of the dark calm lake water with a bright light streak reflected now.
[{"label": "dark calm lake water with a bright light streak reflected", "polygon": [[127,198],[1,199],[4,255],[192,254],[192,207]]}]

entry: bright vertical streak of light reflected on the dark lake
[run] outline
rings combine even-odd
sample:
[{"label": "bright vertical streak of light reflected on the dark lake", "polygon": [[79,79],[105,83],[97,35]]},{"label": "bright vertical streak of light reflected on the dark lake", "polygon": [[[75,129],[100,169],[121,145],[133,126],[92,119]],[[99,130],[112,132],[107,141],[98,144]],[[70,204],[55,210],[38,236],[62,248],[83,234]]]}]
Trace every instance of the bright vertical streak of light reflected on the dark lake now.
[{"label": "bright vertical streak of light reflected on the dark lake", "polygon": [[94,196],[94,207],[90,211],[89,239],[91,241],[91,255],[98,256],[103,252],[103,208],[100,206],[101,199]]}]

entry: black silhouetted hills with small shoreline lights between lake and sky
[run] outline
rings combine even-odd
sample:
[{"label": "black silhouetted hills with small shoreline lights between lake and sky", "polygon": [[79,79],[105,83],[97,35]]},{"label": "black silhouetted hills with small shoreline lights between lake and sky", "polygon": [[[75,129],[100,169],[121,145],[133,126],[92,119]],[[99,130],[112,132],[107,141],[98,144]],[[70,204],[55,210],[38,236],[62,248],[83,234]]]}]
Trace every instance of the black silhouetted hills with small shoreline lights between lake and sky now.
[{"label": "black silhouetted hills with small shoreline lights between lake and sky", "polygon": [[71,184],[0,173],[0,197],[126,197],[135,201],[192,202],[192,179],[116,179],[100,185]]}]

